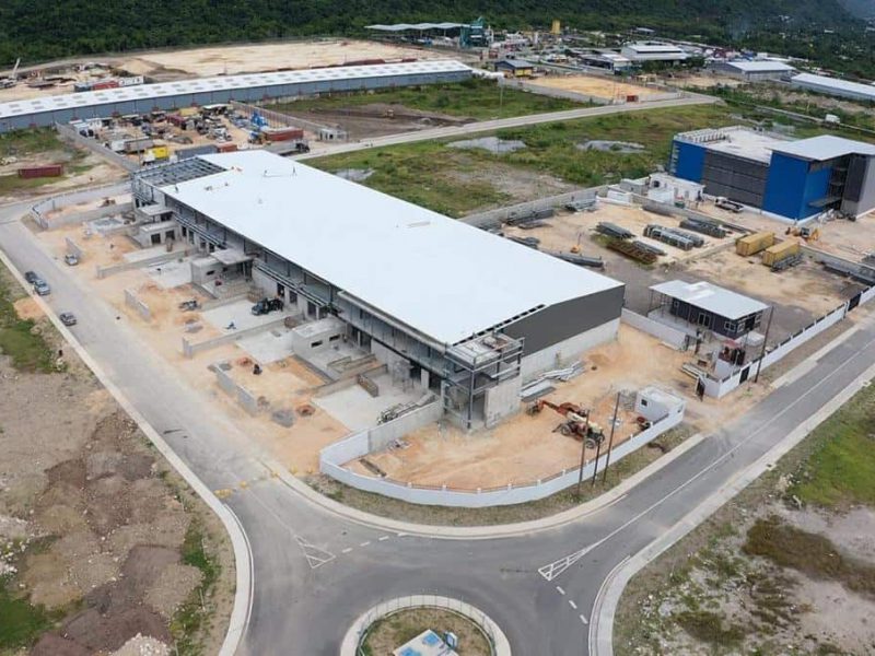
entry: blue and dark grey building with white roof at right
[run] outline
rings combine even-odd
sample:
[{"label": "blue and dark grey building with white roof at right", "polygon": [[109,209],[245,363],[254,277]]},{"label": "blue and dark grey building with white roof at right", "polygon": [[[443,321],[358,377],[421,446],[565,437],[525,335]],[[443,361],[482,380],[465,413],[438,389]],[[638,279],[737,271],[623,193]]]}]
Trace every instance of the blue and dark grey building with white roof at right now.
[{"label": "blue and dark grey building with white roof at right", "polygon": [[677,134],[672,175],[793,221],[875,209],[875,145],[833,136],[790,141],[744,127]]}]

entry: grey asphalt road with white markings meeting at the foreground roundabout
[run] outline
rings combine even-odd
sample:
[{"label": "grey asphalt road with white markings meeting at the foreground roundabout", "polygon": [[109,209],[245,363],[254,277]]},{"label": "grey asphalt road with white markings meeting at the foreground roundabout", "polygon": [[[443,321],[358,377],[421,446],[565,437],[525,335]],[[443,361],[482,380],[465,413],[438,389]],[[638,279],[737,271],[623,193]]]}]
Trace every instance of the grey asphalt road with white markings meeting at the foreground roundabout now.
[{"label": "grey asphalt road with white markings meeting at the foreground roundabout", "polygon": [[[586,654],[593,601],[614,566],[875,363],[875,327],[867,325],[609,508],[562,528],[483,540],[397,535],[337,516],[271,478],[245,435],[203,411],[206,393],[183,385],[150,355],[127,318],[67,276],[23,225],[4,221],[18,211],[0,208],[0,248],[20,270],[39,271],[49,281],[51,307],[78,314],[75,337],[203,481],[238,490],[225,503],[254,555],[252,619],[240,649],[245,655],[336,656],[358,614],[380,600],[422,591],[480,607],[502,625],[515,654]],[[245,490],[241,481],[249,483]]]}]

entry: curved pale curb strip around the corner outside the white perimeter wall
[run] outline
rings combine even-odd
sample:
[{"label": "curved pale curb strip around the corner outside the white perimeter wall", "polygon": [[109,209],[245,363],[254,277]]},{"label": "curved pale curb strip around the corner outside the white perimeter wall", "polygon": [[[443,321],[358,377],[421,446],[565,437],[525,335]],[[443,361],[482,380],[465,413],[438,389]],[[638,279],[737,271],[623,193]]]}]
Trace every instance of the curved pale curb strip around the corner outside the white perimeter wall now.
[{"label": "curved pale curb strip around the corner outside the white perimeter wall", "polygon": [[604,494],[600,494],[579,506],[574,506],[567,511],[562,511],[561,513],[557,513],[556,515],[550,515],[549,517],[542,517],[540,519],[517,522],[514,524],[497,524],[494,526],[441,526],[431,524],[413,524],[398,519],[390,519],[388,517],[382,517],[380,515],[352,508],[348,505],[328,499],[324,494],[320,494],[311,488],[301,479],[289,473],[289,471],[287,471],[287,469],[280,462],[273,459],[264,459],[262,464],[265,467],[273,471],[277,475],[277,478],[285,485],[291,488],[294,492],[304,496],[307,501],[322,507],[323,509],[348,519],[349,522],[354,522],[355,524],[366,526],[369,528],[377,528],[396,534],[421,536],[433,539],[490,540],[497,538],[513,538],[552,530],[567,526],[573,522],[578,522],[584,517],[587,517],[588,515],[593,515],[618,502],[629,492],[629,490],[638,485],[642,480],[660,471],[664,467],[667,467],[675,459],[679,458],[695,446],[698,446],[698,444],[707,437],[708,435],[702,433],[691,435],[670,452],[657,458],[629,478],[620,481],[617,485]]}]

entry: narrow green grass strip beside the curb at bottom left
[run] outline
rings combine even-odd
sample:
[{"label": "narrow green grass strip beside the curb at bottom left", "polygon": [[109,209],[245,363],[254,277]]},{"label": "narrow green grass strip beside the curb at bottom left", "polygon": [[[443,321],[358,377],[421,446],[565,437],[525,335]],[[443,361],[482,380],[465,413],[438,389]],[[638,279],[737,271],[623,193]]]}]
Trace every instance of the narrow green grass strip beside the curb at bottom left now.
[{"label": "narrow green grass strip beside the curb at bottom left", "polygon": [[203,540],[203,530],[192,522],[185,534],[182,560],[186,565],[200,570],[201,579],[190,598],[176,611],[171,621],[171,633],[176,641],[177,653],[183,656],[197,656],[202,653],[198,636],[210,611],[205,610],[201,600],[210,596],[219,578],[219,562],[205,548]]}]

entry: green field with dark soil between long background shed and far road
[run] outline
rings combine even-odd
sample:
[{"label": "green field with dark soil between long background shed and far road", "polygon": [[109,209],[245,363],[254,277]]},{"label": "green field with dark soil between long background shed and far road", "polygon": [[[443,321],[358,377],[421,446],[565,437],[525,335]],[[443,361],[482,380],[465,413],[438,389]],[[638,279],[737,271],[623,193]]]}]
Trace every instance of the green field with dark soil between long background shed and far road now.
[{"label": "green field with dark soil between long background shed and far road", "polygon": [[397,104],[408,109],[468,117],[477,120],[509,118],[544,112],[561,112],[587,106],[585,103],[551,98],[516,89],[500,87],[488,80],[472,79],[467,82],[452,84],[423,84],[422,86],[376,90],[373,93],[334,94],[293,103],[278,103],[268,105],[268,107],[277,112],[300,113],[313,109],[336,110],[345,107],[370,105],[371,103]]}]

